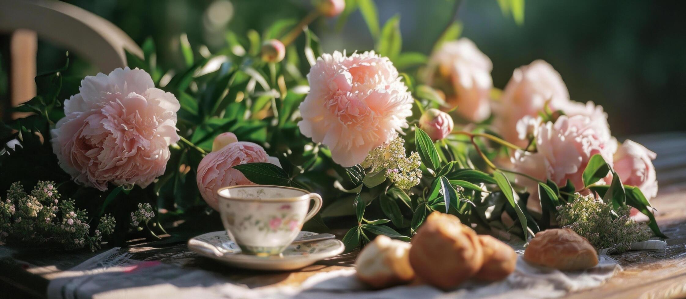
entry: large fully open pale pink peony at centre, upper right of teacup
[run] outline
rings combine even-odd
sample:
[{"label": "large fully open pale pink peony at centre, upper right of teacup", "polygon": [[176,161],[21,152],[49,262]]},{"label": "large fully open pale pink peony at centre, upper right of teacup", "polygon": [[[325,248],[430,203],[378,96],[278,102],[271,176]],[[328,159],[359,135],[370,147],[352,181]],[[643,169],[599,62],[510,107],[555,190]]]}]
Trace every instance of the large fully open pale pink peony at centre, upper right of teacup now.
[{"label": "large fully open pale pink peony at centre, upper right of teacup", "polygon": [[333,161],[342,166],[362,163],[369,151],[407,128],[412,95],[387,57],[373,51],[324,54],[307,79],[300,132],[329,146]]}]

